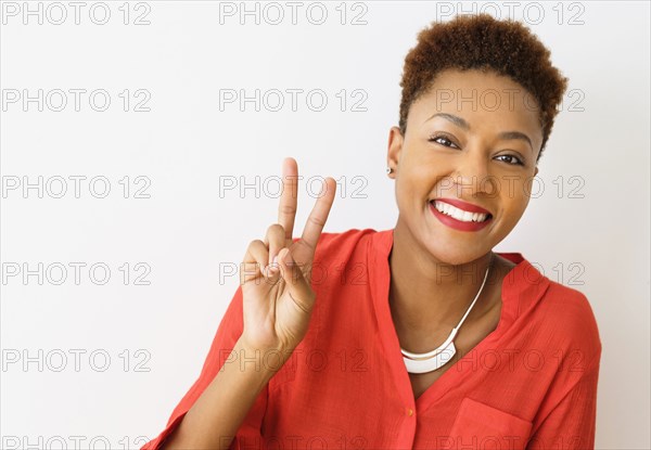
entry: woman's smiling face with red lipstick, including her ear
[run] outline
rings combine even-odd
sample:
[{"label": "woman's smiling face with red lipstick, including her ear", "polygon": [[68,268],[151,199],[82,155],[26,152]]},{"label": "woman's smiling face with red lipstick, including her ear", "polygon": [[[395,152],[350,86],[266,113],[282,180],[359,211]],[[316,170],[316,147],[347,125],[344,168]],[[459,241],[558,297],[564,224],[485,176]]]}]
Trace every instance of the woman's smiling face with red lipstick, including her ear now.
[{"label": "woman's smiling face with red lipstick, including her ear", "polygon": [[[464,263],[490,252],[528,204],[542,143],[538,114],[533,98],[508,77],[441,72],[411,104],[405,136],[391,129],[387,165],[396,181],[396,228],[443,262]],[[490,216],[477,226],[470,214],[459,216],[447,206],[452,217],[437,211],[435,198],[459,200]]]}]

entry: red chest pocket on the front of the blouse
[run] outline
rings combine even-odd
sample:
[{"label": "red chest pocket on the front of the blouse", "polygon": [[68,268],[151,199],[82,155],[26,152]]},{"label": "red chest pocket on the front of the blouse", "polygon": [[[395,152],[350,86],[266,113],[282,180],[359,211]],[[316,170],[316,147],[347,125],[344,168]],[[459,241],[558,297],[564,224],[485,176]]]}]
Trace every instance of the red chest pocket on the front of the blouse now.
[{"label": "red chest pocket on the front of the blouse", "polygon": [[465,397],[446,448],[523,450],[531,430],[531,422]]}]

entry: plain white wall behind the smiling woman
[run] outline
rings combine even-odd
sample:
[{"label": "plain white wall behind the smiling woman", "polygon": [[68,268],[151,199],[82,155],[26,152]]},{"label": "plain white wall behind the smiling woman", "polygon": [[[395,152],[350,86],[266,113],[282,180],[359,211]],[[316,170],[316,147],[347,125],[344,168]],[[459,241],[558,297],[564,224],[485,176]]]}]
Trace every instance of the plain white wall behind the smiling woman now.
[{"label": "plain white wall behind the smiling woman", "polygon": [[[573,91],[540,162],[544,190],[496,250],[520,252],[587,295],[603,343],[597,448],[648,449],[649,3],[527,4],[486,11],[527,23]],[[220,267],[239,263],[277,220],[270,177],[283,157],[306,179],[346,187],[326,231],[395,224],[384,169],[403,61],[417,33],[458,2],[302,2],[295,24],[286,2],[276,5],[280,24],[278,8],[257,3],[257,25],[255,15],[240,23],[240,2],[82,2],[78,18],[68,2],[2,2],[2,447],[60,448],[59,436],[67,448],[135,448],[163,429],[238,286],[237,274],[220,280]],[[320,7],[326,22],[310,23]],[[42,24],[26,8],[40,8]],[[39,89],[42,112],[23,104]],[[75,89],[86,90],[79,111]],[[270,111],[270,95],[260,111],[220,107],[227,89],[280,90],[285,105]],[[288,89],[304,90],[296,111]],[[306,103],[312,90],[326,93],[321,112],[310,110],[317,97]],[[56,112],[61,91],[67,105]],[[103,94],[111,104],[95,111]],[[360,100],[365,111],[354,111]],[[23,191],[38,177],[42,198]],[[263,190],[224,191],[228,177],[260,177]],[[55,198],[62,179],[67,192]],[[296,233],[318,182],[311,196],[301,188]],[[86,265],[78,284],[76,262]],[[39,263],[42,284],[37,274],[25,281]],[[67,279],[55,284],[62,267]]]}]

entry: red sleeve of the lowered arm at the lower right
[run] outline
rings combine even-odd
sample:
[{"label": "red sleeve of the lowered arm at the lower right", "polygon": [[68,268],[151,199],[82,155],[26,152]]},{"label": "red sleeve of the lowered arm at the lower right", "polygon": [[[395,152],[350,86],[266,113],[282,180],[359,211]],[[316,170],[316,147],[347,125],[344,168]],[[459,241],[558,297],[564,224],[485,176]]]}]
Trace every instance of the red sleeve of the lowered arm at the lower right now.
[{"label": "red sleeve of the lowered arm at the lower right", "polygon": [[551,410],[526,449],[595,449],[599,357]]}]

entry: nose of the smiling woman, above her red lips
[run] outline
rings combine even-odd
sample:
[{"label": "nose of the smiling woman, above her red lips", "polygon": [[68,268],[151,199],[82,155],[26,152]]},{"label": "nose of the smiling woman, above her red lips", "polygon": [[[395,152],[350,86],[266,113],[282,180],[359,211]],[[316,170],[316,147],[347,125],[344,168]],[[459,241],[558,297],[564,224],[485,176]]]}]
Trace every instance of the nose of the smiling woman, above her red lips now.
[{"label": "nose of the smiling woman, above her red lips", "polygon": [[475,196],[481,192],[490,195],[496,189],[494,178],[490,176],[489,160],[485,152],[470,147],[461,152],[452,175],[457,196]]}]

